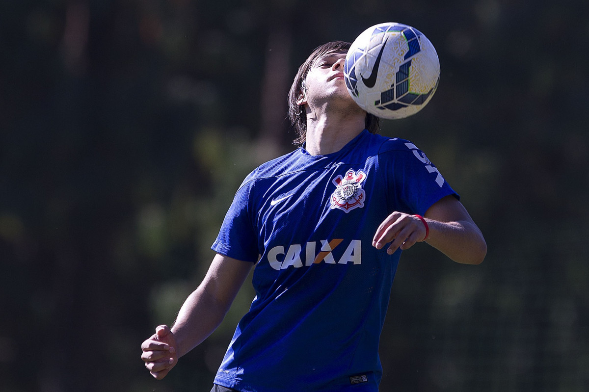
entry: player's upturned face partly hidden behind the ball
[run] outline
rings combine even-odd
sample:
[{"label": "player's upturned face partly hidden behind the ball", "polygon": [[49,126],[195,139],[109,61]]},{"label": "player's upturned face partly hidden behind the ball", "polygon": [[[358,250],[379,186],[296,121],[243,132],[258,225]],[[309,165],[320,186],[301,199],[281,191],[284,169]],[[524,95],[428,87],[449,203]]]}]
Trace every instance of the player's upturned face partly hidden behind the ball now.
[{"label": "player's upturned face partly hidden behind the ball", "polygon": [[353,102],[343,79],[345,58],[345,53],[330,53],[313,62],[305,78],[301,104],[319,107],[325,102]]}]

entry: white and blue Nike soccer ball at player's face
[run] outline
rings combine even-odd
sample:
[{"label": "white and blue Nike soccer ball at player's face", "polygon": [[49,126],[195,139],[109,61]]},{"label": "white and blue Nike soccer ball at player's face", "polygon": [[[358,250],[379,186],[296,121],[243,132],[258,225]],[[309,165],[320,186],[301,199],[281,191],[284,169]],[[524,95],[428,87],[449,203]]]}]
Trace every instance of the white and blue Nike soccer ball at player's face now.
[{"label": "white and blue Nike soccer ball at player's face", "polygon": [[434,45],[418,29],[389,22],[366,29],[352,42],[343,74],[362,109],[399,119],[417,113],[432,99],[440,63]]}]

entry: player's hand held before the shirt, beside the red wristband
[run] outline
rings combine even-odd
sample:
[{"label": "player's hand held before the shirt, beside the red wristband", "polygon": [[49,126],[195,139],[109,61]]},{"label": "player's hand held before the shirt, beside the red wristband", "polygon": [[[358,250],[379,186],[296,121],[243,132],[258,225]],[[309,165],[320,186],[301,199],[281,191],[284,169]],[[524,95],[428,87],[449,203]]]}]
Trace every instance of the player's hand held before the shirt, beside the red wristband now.
[{"label": "player's hand held before the shirt, beside the red wristband", "polygon": [[425,235],[425,225],[418,217],[403,212],[393,212],[376,230],[372,246],[382,249],[391,242],[386,253],[393,254],[399,248],[406,250],[415,245],[415,242],[423,241]]}]

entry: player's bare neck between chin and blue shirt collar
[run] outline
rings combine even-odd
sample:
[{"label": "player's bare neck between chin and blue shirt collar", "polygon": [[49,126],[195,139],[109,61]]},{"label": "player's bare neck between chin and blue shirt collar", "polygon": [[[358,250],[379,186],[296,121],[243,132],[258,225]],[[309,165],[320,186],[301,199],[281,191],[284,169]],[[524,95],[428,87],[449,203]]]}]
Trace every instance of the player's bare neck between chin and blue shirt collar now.
[{"label": "player's bare neck between chin and blue shirt collar", "polygon": [[364,129],[361,115],[307,117],[305,149],[311,155],[327,155],[342,150]]}]

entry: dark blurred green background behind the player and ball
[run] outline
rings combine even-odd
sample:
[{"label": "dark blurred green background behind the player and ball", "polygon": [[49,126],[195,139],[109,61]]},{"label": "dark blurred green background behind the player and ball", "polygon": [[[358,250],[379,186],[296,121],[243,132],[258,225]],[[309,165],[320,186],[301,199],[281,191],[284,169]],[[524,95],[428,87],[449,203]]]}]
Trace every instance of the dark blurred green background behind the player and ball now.
[{"label": "dark blurred green background behind the player and ball", "polygon": [[249,284],[163,381],[140,344],[200,282],[243,177],[293,149],[298,65],[389,21],[442,77],[382,133],[428,154],[489,252],[403,254],[380,390],[589,390],[581,0],[1,1],[0,390],[209,391]]}]

